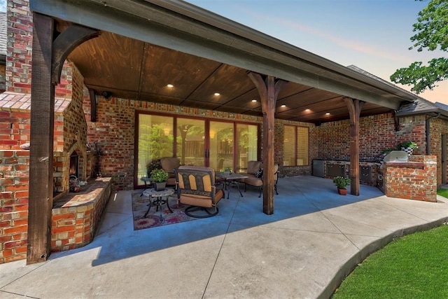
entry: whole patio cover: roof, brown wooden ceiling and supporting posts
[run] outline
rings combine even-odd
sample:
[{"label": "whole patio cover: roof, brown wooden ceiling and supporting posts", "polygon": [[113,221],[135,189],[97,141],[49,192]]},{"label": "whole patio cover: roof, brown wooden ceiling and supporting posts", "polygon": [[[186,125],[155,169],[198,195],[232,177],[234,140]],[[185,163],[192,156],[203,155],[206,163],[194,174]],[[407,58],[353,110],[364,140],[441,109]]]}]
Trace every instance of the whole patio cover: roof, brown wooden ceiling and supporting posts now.
[{"label": "whole patio cover: roof, brown wooden ceiling and supporting posts", "polygon": [[[29,188],[29,263],[49,254],[54,87],[66,58],[76,64],[90,89],[92,122],[97,95],[261,117],[265,214],[274,213],[270,170],[276,119],[315,125],[349,119],[351,194],[360,195],[360,116],[395,111],[414,99],[375,78],[181,1],[105,5],[93,0],[31,0],[30,8],[34,183]],[[167,83],[179,88],[173,93],[165,88]],[[222,96],[212,98],[217,89]],[[311,113],[304,113],[305,108]]]}]

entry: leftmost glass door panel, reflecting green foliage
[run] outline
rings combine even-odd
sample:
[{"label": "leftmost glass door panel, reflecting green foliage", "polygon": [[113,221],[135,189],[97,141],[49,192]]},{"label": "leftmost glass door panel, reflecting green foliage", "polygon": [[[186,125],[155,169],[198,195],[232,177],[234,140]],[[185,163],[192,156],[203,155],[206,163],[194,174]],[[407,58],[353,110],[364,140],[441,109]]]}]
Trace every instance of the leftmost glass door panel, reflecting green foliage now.
[{"label": "leftmost glass door panel, reflecting green foliage", "polygon": [[[173,156],[173,120],[168,116],[139,114],[137,143],[137,178],[146,176],[146,164]],[[141,183],[139,181],[139,183]],[[137,184],[139,184],[137,183]]]}]

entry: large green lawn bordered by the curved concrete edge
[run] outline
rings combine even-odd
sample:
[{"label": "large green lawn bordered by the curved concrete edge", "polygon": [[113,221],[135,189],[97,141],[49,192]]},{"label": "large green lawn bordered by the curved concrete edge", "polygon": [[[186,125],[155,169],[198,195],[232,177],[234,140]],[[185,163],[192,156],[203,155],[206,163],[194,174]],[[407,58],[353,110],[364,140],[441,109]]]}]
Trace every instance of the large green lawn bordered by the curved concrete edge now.
[{"label": "large green lawn bordered by the curved concrete edge", "polygon": [[448,225],[395,239],[342,281],[332,298],[448,298]]}]

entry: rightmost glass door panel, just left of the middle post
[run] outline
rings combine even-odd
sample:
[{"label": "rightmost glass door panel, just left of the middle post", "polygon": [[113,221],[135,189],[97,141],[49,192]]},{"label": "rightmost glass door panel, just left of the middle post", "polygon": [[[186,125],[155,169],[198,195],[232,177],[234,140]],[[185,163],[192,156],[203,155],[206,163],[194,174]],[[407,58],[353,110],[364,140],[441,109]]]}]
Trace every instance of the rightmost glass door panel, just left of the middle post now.
[{"label": "rightmost glass door panel, just left of the middle post", "polygon": [[258,160],[258,126],[237,124],[237,168],[247,168],[247,161]]}]

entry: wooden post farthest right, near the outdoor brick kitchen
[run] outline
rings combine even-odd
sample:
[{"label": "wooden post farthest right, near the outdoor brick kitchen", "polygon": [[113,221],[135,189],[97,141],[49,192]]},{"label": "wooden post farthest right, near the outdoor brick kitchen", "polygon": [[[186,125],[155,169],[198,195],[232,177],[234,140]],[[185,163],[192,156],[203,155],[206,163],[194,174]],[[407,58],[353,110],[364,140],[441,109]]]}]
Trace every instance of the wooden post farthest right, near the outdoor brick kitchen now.
[{"label": "wooden post farthest right, near the outdoor brick kitchen", "polygon": [[350,114],[350,179],[351,195],[359,195],[359,117],[364,102],[344,97]]}]

